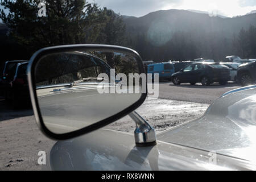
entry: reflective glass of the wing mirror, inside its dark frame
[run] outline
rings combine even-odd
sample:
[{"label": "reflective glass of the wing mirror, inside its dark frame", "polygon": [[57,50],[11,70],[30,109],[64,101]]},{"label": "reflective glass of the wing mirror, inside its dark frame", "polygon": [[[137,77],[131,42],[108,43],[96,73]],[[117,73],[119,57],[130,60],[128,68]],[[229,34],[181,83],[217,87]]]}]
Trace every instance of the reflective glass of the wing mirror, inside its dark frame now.
[{"label": "reflective glass of the wing mirror, inside its dark frame", "polygon": [[43,56],[34,73],[44,125],[55,134],[70,133],[133,105],[146,93],[138,63],[133,55],[114,51]]}]

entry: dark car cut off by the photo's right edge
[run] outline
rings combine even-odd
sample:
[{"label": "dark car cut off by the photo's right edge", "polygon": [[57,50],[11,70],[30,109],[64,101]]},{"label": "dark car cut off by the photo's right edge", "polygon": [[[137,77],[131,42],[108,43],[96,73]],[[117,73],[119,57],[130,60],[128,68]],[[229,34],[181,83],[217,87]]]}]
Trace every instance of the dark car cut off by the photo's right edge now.
[{"label": "dark car cut off by the photo's right edge", "polygon": [[242,86],[254,84],[256,80],[256,61],[240,65],[237,69],[237,78]]}]

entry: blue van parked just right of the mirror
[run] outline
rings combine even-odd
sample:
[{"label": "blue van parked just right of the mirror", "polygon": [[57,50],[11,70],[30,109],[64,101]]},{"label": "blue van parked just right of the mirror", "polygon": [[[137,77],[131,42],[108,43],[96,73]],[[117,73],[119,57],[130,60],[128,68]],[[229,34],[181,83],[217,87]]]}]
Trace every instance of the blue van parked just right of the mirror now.
[{"label": "blue van parked just right of the mirror", "polygon": [[171,75],[175,73],[175,68],[171,63],[150,64],[147,67],[147,73],[151,73],[152,78],[154,78],[154,74],[159,74],[159,80],[170,80]]}]

